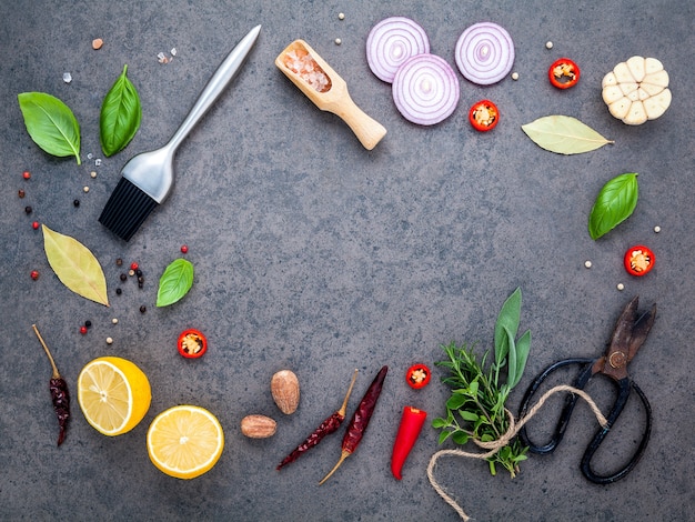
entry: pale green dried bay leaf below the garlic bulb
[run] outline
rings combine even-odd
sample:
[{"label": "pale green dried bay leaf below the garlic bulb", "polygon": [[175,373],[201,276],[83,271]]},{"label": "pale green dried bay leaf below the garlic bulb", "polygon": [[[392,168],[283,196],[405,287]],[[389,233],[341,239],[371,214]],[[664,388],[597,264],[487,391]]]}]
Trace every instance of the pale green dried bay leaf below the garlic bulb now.
[{"label": "pale green dried bay leaf below the garlic bulb", "polygon": [[522,130],[538,147],[558,154],[580,154],[600,149],[606,143],[615,143],[570,116],[538,118],[522,126]]}]

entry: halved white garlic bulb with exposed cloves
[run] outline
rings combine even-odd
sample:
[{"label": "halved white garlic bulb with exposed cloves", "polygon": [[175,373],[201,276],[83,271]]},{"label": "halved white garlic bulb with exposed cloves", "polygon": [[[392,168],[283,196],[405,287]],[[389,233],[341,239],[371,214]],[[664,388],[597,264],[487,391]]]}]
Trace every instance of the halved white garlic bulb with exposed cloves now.
[{"label": "halved white garlic bulb with exposed cloves", "polygon": [[668,73],[655,58],[632,57],[618,63],[601,86],[611,114],[628,126],[654,120],[671,104]]}]

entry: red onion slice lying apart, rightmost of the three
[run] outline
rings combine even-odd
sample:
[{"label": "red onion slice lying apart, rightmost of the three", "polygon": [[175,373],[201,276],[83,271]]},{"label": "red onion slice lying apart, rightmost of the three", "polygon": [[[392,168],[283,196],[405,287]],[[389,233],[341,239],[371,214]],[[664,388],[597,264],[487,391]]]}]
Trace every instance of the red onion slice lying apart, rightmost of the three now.
[{"label": "red onion slice lying apart, rightmost of the three", "polygon": [[496,23],[475,23],[456,42],[456,66],[473,83],[490,86],[502,80],[514,64],[514,42]]}]

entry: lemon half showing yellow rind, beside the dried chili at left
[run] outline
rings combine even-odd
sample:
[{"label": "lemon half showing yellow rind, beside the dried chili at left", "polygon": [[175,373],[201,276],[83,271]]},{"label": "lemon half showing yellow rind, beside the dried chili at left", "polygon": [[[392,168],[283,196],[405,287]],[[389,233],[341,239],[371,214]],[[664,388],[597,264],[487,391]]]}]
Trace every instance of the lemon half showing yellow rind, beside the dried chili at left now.
[{"label": "lemon half showing yellow rind, beside the dried chili at left", "polygon": [[135,428],[150,409],[151,400],[148,377],[125,359],[94,359],[78,378],[82,413],[104,435],[120,435]]}]

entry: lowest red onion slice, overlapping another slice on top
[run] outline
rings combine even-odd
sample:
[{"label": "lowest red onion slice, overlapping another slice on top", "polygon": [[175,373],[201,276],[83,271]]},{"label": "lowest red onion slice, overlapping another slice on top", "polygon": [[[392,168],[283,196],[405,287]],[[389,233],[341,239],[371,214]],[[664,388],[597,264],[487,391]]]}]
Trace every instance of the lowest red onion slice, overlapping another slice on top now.
[{"label": "lowest red onion slice, overlapping another slice on top", "polygon": [[456,73],[435,54],[417,54],[406,60],[395,73],[392,90],[403,118],[421,126],[433,126],[449,118],[461,94]]}]

